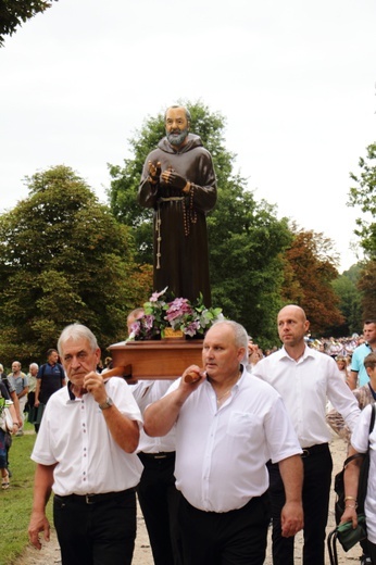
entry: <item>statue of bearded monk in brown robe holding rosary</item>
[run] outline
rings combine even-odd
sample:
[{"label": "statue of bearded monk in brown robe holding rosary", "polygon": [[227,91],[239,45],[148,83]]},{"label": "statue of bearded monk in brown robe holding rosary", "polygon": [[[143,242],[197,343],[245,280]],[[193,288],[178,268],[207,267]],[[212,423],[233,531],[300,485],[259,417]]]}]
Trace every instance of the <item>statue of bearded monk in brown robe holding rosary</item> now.
[{"label": "statue of bearded monk in brown robe holding rosary", "polygon": [[148,156],[138,201],[154,210],[154,290],[211,305],[205,214],[216,202],[210,153],[190,134],[186,108],[165,113],[166,137]]}]

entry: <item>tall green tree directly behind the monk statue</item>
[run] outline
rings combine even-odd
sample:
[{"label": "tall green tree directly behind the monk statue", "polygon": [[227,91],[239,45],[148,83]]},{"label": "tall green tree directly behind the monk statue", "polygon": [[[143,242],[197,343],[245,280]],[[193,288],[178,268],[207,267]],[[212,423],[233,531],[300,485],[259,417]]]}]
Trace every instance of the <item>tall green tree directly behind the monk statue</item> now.
[{"label": "tall green tree directly behind the monk statue", "polygon": [[[273,206],[258,203],[247,181],[234,174],[235,154],[224,145],[225,120],[201,102],[181,102],[191,114],[191,131],[211,152],[217,176],[218,200],[208,216],[212,298],[227,317],[237,319],[265,346],[275,343],[280,306],[281,252],[290,242],[287,221],[278,221]],[[124,166],[110,166],[110,205],[131,227],[136,258],[152,263],[151,211],[137,203],[137,189],[147,154],[165,135],[163,113],[148,117],[129,139],[133,156]]]}]

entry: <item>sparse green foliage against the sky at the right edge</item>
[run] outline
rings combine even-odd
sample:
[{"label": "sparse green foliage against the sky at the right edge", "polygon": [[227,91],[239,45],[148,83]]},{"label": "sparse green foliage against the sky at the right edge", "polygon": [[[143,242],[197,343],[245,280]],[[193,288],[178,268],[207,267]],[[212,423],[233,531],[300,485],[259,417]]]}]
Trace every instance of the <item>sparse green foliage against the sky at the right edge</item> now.
[{"label": "sparse green foliage against the sky at the right edge", "polygon": [[366,159],[359,161],[359,175],[350,174],[358,187],[350,189],[350,206],[360,206],[362,217],[356,219],[355,235],[361,238],[361,244],[369,259],[376,258],[376,143],[367,147]]}]

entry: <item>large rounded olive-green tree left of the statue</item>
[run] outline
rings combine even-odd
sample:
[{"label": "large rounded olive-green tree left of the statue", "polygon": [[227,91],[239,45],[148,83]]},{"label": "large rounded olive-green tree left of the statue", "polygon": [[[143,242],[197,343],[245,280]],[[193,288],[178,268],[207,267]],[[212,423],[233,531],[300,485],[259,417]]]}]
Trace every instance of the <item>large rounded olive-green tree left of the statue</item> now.
[{"label": "large rounded olive-green tree left of the statue", "polygon": [[124,340],[127,313],[151,280],[134,263],[129,229],[68,167],[27,184],[29,197],[0,217],[1,359],[43,359],[75,321],[102,347]]}]

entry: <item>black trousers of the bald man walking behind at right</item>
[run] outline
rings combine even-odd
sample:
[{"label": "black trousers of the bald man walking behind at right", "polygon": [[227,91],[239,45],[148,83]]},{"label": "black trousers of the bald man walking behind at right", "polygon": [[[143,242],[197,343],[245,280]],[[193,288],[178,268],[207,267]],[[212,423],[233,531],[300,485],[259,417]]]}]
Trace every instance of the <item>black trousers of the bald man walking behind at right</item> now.
[{"label": "black trousers of the bald man walking behind at right", "polygon": [[[333,461],[329,447],[303,456],[304,565],[325,565],[325,528],[328,519]],[[285,489],[278,465],[268,465],[270,497],[273,517],[273,563],[293,565],[294,538],[283,538],[280,512],[285,504]]]}]

